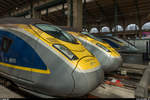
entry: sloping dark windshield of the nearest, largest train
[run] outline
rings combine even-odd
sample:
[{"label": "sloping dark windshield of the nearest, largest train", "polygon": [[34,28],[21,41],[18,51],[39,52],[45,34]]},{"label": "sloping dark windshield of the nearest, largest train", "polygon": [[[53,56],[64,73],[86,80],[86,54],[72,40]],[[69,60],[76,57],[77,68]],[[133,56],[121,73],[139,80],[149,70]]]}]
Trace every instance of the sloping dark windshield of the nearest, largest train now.
[{"label": "sloping dark windshield of the nearest, largest train", "polygon": [[77,40],[71,34],[67,33],[57,26],[49,24],[35,24],[35,26],[55,38],[66,42],[77,43]]}]

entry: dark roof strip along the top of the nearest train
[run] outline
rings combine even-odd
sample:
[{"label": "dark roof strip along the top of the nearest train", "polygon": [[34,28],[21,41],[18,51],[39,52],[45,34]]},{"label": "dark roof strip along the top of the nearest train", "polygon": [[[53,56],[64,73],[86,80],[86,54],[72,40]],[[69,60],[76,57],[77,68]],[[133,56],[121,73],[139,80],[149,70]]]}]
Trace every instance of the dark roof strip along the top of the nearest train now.
[{"label": "dark roof strip along the top of the nearest train", "polygon": [[42,21],[36,18],[24,18],[24,17],[4,17],[0,18],[0,24],[50,24],[49,22]]}]

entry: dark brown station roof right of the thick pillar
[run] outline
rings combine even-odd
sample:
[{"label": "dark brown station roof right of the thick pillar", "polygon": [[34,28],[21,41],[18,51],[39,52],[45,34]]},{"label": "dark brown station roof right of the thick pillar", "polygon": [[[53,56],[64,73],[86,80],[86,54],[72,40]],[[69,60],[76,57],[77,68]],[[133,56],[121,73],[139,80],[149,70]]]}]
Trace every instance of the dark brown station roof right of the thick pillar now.
[{"label": "dark brown station roof right of the thick pillar", "polygon": [[[149,20],[150,15],[150,0],[92,0],[87,3],[87,15],[91,22],[96,19],[97,22],[114,21],[115,3],[117,7],[118,21],[127,21],[129,19],[136,22],[136,18],[140,20]],[[144,18],[144,19],[143,19]]]}]

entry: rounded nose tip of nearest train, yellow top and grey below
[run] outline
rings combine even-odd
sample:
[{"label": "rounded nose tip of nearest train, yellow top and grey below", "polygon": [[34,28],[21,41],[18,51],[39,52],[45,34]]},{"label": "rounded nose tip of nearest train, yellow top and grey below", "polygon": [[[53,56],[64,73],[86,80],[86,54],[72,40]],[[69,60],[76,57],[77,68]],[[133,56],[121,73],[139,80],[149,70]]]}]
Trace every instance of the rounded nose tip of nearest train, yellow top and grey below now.
[{"label": "rounded nose tip of nearest train, yellow top and grey below", "polygon": [[82,58],[73,72],[72,96],[83,96],[96,89],[104,81],[104,71],[95,57]]}]

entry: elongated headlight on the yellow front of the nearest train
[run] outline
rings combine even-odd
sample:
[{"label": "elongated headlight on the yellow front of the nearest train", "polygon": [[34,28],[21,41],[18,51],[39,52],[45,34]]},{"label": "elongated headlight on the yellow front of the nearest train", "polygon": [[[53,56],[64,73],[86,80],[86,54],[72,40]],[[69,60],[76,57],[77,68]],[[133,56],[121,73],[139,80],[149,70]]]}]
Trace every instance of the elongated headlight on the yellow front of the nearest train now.
[{"label": "elongated headlight on the yellow front of the nearest train", "polygon": [[63,45],[60,44],[54,44],[53,45],[57,50],[59,50],[62,54],[64,54],[67,58],[70,60],[76,60],[78,59],[77,56],[75,56],[68,48],[66,48]]}]

